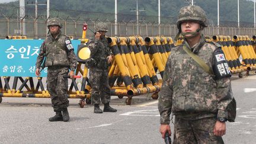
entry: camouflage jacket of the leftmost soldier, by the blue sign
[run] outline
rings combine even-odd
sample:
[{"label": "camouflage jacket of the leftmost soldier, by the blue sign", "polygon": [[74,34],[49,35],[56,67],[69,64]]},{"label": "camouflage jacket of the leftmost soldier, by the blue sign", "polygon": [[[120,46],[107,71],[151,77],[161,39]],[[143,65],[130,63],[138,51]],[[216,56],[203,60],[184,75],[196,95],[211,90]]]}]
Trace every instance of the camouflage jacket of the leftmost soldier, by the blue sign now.
[{"label": "camouflage jacket of the leftmost soldier, by the blue sign", "polygon": [[40,53],[37,57],[36,68],[40,69],[44,56],[46,56],[46,66],[68,66],[72,71],[76,69],[76,55],[73,50],[68,50],[65,41],[69,40],[68,36],[61,33],[56,39],[49,34],[40,47]]}]

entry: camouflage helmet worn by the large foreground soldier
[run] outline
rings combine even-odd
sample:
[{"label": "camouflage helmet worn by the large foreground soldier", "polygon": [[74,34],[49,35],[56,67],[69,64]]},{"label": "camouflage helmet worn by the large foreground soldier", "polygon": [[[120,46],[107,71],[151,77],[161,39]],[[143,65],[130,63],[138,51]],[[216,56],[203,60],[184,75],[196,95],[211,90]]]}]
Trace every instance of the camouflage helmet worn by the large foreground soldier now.
[{"label": "camouflage helmet worn by the large foreground soldier", "polygon": [[197,21],[203,28],[208,25],[204,10],[197,5],[189,5],[180,9],[177,20],[178,29],[181,28],[181,23],[187,20]]}]

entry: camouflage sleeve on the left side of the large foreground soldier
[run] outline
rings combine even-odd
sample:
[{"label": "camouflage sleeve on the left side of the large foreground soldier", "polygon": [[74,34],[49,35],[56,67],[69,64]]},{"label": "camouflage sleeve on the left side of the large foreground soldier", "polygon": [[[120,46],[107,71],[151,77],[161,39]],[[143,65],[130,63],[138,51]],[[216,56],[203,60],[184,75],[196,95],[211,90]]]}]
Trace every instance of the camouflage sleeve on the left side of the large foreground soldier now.
[{"label": "camouflage sleeve on the left side of the large foreground soldier", "polygon": [[171,59],[168,58],[167,64],[165,65],[165,72],[161,91],[159,92],[158,98],[158,110],[160,113],[160,123],[169,124],[170,114],[172,108],[172,78],[171,78]]}]

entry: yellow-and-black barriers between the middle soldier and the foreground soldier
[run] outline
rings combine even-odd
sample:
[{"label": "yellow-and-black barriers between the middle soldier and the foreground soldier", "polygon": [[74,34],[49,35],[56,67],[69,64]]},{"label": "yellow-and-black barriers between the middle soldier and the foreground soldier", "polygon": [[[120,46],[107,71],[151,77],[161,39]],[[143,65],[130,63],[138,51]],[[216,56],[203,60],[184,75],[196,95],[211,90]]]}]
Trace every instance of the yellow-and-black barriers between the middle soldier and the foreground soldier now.
[{"label": "yellow-and-black barriers between the middle soldier and the foreground soldier", "polygon": [[[157,99],[161,82],[156,71],[164,75],[164,66],[173,46],[170,37],[108,37],[114,54],[114,62],[108,73],[111,95],[127,96],[126,104],[132,97],[153,92]],[[124,83],[124,85],[123,85]]]}]

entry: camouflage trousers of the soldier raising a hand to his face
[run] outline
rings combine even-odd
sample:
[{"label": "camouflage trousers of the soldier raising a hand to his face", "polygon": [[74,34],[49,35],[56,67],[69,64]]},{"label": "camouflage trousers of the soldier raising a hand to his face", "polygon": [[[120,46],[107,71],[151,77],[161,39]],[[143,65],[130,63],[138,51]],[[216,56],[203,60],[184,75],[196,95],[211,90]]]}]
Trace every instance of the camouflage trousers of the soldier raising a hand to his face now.
[{"label": "camouflage trousers of the soldier raising a hand to his face", "polygon": [[89,71],[89,83],[91,84],[92,104],[110,103],[110,86],[108,84],[108,72]]}]

